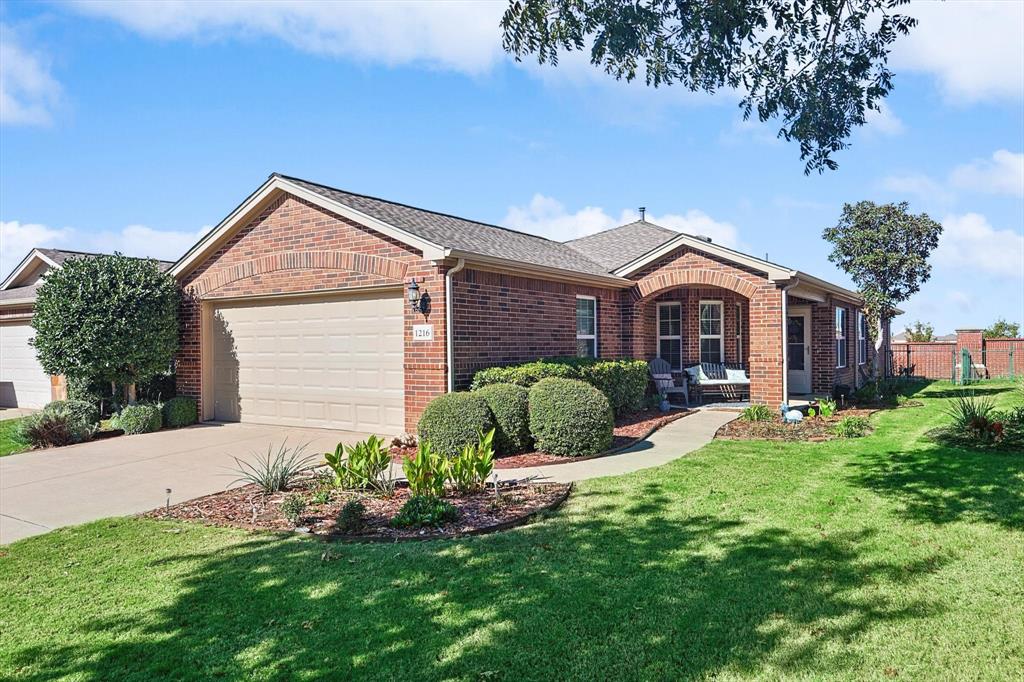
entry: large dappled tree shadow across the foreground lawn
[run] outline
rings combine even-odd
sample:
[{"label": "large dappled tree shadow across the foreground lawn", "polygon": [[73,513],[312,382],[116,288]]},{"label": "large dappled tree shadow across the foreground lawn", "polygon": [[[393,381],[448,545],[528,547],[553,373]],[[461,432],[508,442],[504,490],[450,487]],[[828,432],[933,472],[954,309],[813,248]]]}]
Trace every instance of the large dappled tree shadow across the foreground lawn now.
[{"label": "large dappled tree shadow across the foreground lawn", "polygon": [[872,530],[687,517],[678,495],[591,491],[543,524],[461,542],[254,537],[186,556],[169,541],[147,570],[170,603],[12,663],[36,680],[650,679],[756,674],[770,656],[820,676],[856,669],[845,644],[858,633],[939,610],[878,589],[924,578],[939,555],[869,558]]}]

